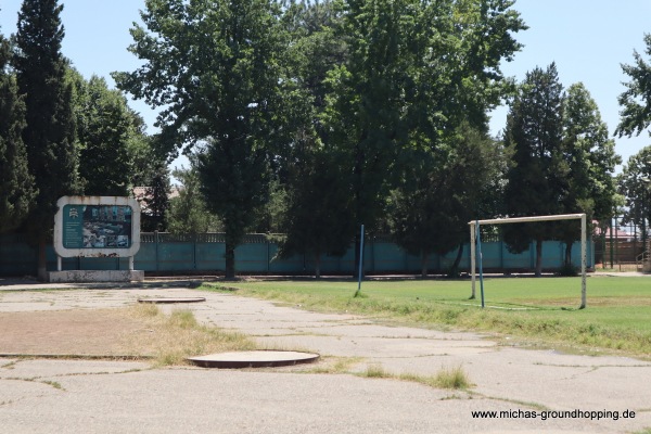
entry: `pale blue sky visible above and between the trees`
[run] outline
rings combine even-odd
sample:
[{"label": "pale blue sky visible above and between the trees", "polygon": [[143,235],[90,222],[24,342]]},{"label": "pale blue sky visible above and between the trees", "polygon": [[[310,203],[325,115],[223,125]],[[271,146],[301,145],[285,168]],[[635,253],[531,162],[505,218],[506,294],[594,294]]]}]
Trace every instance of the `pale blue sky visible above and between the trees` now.
[{"label": "pale blue sky visible above and between the trees", "polygon": [[[21,4],[21,0],[0,0],[0,31],[5,36],[15,31]],[[126,48],[143,0],[67,0],[63,4],[63,54],[84,76],[95,74],[113,85],[111,72],[138,67],[139,61]],[[634,49],[644,51],[643,35],[651,33],[651,1],[518,0],[514,9],[529,29],[515,35],[525,47],[513,62],[503,64],[503,73],[522,80],[536,66],[556,62],[565,88],[578,81],[586,86],[612,133],[620,120],[617,95],[624,90],[622,82],[628,80],[620,65],[633,62]],[[155,113],[145,104],[131,101],[131,106],[153,124]],[[506,114],[505,107],[494,112],[495,133],[503,128]],[[615,141],[624,162],[651,144],[647,133]]]}]

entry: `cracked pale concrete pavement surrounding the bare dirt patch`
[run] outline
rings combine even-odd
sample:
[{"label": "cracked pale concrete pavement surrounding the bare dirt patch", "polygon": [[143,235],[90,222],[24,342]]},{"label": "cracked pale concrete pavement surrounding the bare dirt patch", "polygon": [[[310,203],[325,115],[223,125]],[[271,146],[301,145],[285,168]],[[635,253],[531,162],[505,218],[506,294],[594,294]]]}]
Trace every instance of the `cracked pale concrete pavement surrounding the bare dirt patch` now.
[{"label": "cracked pale concrete pavement surrounding the bare dirt patch", "polygon": [[[316,314],[187,288],[33,292],[18,286],[0,292],[0,311],[202,296],[205,303],[182,306],[200,321],[250,334],[267,348],[322,357],[316,366],[255,371],[0,359],[3,432],[630,433],[651,427],[651,362],[634,358],[505,347],[476,333],[391,327],[345,312]],[[470,393],[450,392],[314,373],[333,359],[352,360],[353,372],[382,367],[396,374],[434,375],[461,367],[475,385]],[[477,418],[473,411],[497,413]]]}]

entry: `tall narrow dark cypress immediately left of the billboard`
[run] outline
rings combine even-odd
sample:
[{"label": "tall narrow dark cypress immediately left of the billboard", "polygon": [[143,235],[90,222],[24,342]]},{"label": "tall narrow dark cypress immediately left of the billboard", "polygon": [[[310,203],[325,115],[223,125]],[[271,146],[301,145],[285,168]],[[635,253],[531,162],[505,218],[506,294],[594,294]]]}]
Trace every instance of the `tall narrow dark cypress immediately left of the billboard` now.
[{"label": "tall narrow dark cypress immediately left of the billboard", "polygon": [[38,241],[38,276],[46,279],[46,242],[52,233],[56,200],[80,191],[75,148],[72,86],[66,82],[64,37],[58,0],[24,0],[18,12],[14,63],[26,105],[29,171],[38,194],[27,229]]}]

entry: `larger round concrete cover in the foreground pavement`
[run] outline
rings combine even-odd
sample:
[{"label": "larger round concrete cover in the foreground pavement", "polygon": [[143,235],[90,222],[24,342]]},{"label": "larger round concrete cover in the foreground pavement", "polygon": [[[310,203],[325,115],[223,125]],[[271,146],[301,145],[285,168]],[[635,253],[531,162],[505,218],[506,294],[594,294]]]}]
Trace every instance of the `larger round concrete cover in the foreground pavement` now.
[{"label": "larger round concrete cover in the foreground pavement", "polygon": [[203,368],[271,368],[311,363],[319,358],[318,354],[298,352],[232,352],[207,356],[189,357],[188,360]]}]

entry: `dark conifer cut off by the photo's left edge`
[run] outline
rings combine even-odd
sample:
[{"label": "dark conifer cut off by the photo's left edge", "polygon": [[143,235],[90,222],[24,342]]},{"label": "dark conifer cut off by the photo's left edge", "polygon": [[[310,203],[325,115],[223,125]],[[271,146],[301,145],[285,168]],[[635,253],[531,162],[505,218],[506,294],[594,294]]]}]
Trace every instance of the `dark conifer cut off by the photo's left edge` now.
[{"label": "dark conifer cut off by the photo's left edge", "polygon": [[9,41],[0,35],[0,233],[17,228],[34,205],[34,177],[22,133],[25,104],[9,69]]}]

